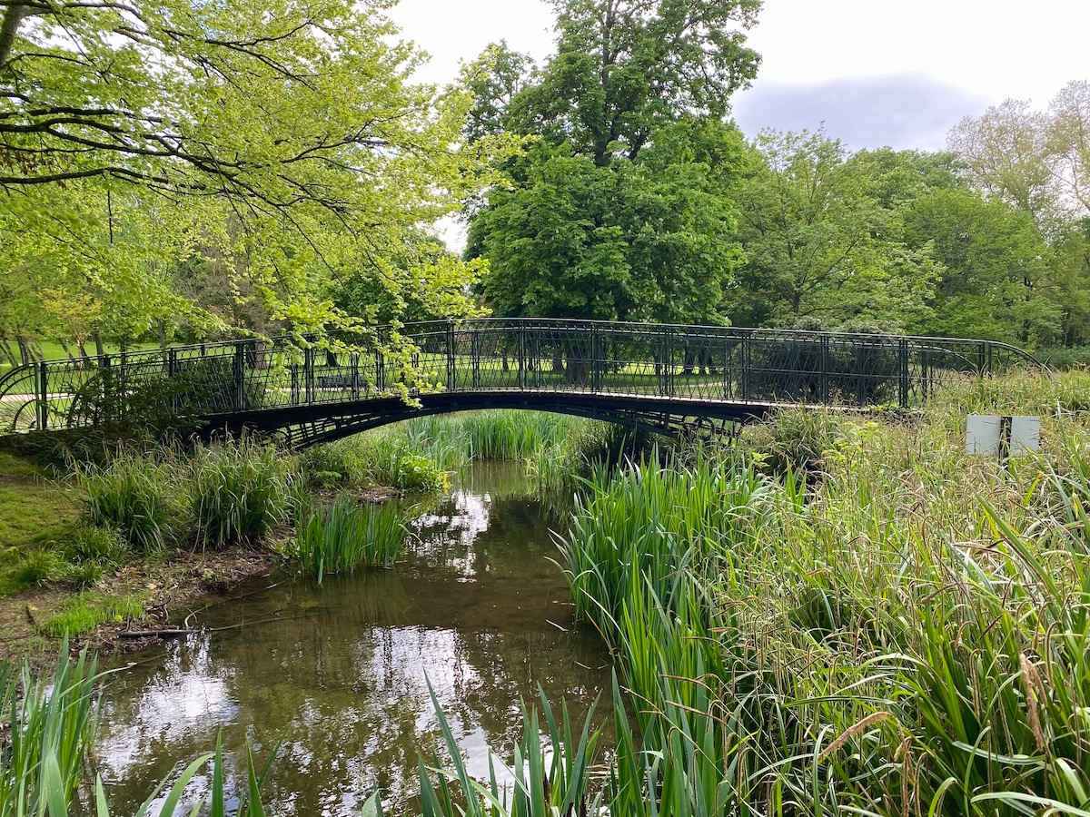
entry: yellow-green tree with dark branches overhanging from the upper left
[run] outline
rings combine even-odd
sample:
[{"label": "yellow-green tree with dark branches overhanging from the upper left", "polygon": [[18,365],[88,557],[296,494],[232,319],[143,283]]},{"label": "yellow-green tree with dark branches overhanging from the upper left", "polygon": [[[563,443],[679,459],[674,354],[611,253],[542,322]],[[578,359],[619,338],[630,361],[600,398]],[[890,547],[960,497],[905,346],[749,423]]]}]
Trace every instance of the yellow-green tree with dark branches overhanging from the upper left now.
[{"label": "yellow-green tree with dark branches overhanging from the upper left", "polygon": [[[263,329],[351,322],[328,298],[341,275],[408,285],[387,280],[413,275],[405,244],[488,184],[510,141],[463,149],[470,95],[411,81],[421,56],[387,5],[0,3],[5,289],[131,334],[162,313],[230,318],[201,303],[213,289],[261,301]],[[179,285],[195,252],[223,285]]]}]

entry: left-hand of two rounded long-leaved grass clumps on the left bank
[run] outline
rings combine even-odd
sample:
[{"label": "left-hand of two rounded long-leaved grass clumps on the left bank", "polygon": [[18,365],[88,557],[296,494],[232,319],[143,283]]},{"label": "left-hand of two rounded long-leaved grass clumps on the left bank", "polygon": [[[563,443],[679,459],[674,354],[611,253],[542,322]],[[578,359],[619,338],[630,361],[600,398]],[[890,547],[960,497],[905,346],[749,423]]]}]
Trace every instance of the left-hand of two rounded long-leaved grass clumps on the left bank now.
[{"label": "left-hand of two rounded long-leaved grass clumps on the left bank", "polygon": [[178,516],[168,470],[150,456],[122,453],[105,466],[83,465],[75,481],[86,493],[93,525],[119,532],[136,550],[162,548]]}]

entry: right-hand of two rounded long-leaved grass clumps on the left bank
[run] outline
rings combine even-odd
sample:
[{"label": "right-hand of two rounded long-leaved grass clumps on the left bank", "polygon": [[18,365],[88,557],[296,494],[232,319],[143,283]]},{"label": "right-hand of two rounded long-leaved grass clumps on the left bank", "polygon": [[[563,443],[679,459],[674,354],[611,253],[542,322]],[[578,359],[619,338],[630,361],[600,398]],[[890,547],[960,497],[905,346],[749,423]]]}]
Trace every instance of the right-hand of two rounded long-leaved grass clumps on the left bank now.
[{"label": "right-hand of two rounded long-leaved grass clumps on the left bank", "polygon": [[242,440],[198,449],[187,486],[197,544],[252,541],[287,521],[292,481],[290,462],[271,446]]}]

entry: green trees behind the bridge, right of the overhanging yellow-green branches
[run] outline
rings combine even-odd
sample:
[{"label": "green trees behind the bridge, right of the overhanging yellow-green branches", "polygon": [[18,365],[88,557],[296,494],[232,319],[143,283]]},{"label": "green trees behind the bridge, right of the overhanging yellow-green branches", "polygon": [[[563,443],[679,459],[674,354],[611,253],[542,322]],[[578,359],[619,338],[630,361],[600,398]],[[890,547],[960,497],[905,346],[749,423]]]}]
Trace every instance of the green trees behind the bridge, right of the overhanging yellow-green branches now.
[{"label": "green trees behind the bridge, right of the overhanging yellow-green branches", "polygon": [[747,141],[755,2],[557,9],[543,64],[499,42],[465,69],[467,137],[529,142],[467,214],[496,314],[1090,342],[1090,83],[947,151]]}]

